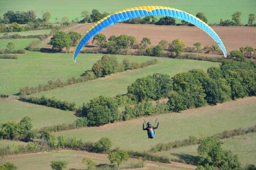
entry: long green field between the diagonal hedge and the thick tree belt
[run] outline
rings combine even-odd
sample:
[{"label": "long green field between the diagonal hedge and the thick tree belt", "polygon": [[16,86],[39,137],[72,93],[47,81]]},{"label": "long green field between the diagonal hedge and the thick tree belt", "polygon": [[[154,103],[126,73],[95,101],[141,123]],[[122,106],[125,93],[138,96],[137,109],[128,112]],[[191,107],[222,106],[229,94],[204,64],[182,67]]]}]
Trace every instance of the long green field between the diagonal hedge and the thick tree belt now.
[{"label": "long green field between the diagonal hedge and the thick tree belt", "polygon": [[[119,62],[123,58],[128,56],[118,56]],[[84,58],[80,56],[79,59]],[[93,56],[92,56],[93,58]],[[129,57],[137,62],[143,62],[156,57]],[[100,78],[89,82],[73,84],[72,86],[66,86],[64,88],[57,88],[56,90],[40,92],[32,96],[55,96],[57,99],[76,101],[76,104],[82,105],[82,103],[88,102],[90,99],[96,96],[115,96],[117,94],[125,94],[127,92],[127,86],[133,83],[136,79],[143,76],[152,75],[154,73],[164,73],[170,76],[174,76],[176,73],[185,72],[191,69],[203,69],[207,70],[210,66],[218,66],[220,63],[202,62],[185,59],[170,59],[170,58],[157,58],[158,65],[152,65],[143,69],[126,71],[123,73],[113,74],[106,76],[106,78]],[[79,64],[86,63],[85,61],[79,61]],[[108,90],[106,90],[108,89]]]}]

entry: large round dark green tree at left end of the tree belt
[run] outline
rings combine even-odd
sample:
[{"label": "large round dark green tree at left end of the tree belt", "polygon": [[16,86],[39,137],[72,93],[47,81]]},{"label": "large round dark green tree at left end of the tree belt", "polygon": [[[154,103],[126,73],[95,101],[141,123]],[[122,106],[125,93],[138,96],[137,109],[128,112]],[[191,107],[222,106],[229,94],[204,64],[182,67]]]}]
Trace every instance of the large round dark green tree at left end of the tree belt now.
[{"label": "large round dark green tree at left end of the tree belt", "polygon": [[118,105],[112,97],[99,96],[83,107],[82,114],[89,126],[100,126],[118,119]]}]

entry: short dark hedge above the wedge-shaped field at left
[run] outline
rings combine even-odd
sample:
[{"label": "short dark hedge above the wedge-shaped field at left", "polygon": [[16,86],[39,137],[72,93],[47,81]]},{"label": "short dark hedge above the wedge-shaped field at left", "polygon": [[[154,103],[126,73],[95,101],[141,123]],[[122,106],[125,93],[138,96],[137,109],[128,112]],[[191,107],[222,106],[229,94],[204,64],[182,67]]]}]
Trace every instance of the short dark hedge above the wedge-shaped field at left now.
[{"label": "short dark hedge above the wedge-shaped field at left", "polygon": [[46,105],[47,107],[57,108],[64,111],[76,111],[76,104],[75,102],[57,100],[55,97],[50,97],[47,99],[45,96],[42,97],[20,97],[20,101],[39,104],[39,105]]}]

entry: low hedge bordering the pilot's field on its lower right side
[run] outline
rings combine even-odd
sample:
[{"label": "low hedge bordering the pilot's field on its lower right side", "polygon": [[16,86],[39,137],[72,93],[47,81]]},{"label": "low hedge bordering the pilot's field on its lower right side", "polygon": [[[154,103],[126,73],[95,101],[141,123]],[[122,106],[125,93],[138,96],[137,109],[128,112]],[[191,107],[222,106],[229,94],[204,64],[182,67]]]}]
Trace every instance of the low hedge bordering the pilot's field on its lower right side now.
[{"label": "low hedge bordering the pilot's field on its lower right side", "polygon": [[[231,138],[238,135],[245,135],[245,134],[255,133],[255,132],[256,132],[256,125],[247,129],[240,128],[240,129],[234,129],[234,130],[225,130],[225,131],[222,131],[222,133],[214,134],[212,137],[219,138],[219,139],[226,139],[226,138]],[[184,139],[181,141],[159,143],[158,145],[152,147],[150,149],[150,152],[168,151],[168,150],[171,150],[172,148],[197,145],[199,144],[199,142],[200,142],[199,138],[189,137],[188,139]]]}]

